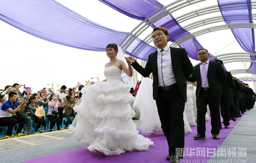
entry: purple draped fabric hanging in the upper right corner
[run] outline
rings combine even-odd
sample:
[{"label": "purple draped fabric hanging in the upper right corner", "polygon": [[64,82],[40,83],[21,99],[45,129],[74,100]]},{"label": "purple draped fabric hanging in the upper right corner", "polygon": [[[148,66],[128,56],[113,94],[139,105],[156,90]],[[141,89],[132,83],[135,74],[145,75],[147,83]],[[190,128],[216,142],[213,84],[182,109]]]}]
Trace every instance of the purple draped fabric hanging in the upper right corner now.
[{"label": "purple draped fabric hanging in the upper right corner", "polygon": [[[243,23],[252,21],[252,7],[250,0],[218,0],[219,8],[224,21],[228,23]],[[231,29],[240,46],[247,52],[255,53],[254,29]],[[250,55],[255,61],[256,56]],[[255,63],[249,69],[255,70]],[[255,73],[254,71],[247,71]]]}]

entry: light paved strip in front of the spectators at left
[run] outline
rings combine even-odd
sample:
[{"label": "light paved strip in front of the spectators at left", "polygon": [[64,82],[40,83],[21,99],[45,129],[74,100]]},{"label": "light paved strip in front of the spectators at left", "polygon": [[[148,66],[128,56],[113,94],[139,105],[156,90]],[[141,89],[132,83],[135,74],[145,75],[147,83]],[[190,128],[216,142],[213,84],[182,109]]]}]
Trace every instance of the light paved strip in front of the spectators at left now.
[{"label": "light paved strip in front of the spectators at left", "polygon": [[[133,120],[134,124],[140,124],[141,121]],[[23,137],[16,137],[10,139],[0,140],[0,152],[34,146],[38,144],[44,144],[49,142],[54,142],[58,140],[72,138],[73,133],[70,129],[52,131],[46,133],[38,133],[33,135],[26,135]]]}]

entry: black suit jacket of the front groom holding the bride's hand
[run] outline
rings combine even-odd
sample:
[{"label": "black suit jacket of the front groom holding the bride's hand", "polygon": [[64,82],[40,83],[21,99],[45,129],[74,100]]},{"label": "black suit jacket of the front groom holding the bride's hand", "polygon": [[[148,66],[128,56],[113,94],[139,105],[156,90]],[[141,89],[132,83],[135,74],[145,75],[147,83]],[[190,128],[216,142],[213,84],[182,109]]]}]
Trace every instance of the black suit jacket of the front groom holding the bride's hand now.
[{"label": "black suit jacket of the front groom holding the bride's hand", "polygon": [[[186,78],[193,73],[193,65],[187,57],[187,51],[184,48],[170,47],[170,57],[172,59],[172,66],[174,71],[174,77],[180,93],[184,100],[187,100],[187,83]],[[140,66],[135,61],[132,66],[142,76],[147,77],[153,73],[153,98],[157,99],[158,93],[158,69],[157,69],[157,50],[148,56],[148,60],[145,68]]]}]

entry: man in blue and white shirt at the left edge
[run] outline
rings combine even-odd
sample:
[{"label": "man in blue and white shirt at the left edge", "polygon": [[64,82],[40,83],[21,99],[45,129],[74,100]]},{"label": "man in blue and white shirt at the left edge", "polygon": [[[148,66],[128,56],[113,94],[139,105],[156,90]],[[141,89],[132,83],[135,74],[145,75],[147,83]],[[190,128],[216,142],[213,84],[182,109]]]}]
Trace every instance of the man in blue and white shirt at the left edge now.
[{"label": "man in blue and white shirt at the left edge", "polygon": [[3,103],[2,108],[0,110],[0,126],[8,126],[6,135],[11,134],[12,128],[16,123],[18,123],[16,134],[20,133],[26,121],[25,117],[14,116],[16,112],[19,112],[19,113],[23,112],[26,100],[23,100],[22,102],[20,102],[20,104],[18,104],[16,100],[17,100],[17,93],[10,92],[9,100]]}]

